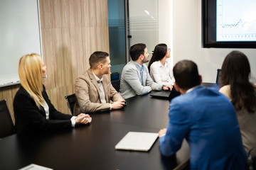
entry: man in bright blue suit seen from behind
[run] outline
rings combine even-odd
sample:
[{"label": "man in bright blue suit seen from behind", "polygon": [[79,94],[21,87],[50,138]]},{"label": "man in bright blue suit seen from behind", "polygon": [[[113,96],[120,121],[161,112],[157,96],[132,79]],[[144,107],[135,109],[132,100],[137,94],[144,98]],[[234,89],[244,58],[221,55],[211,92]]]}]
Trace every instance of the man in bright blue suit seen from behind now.
[{"label": "man in bright blue suit seen from behind", "polygon": [[186,138],[191,169],[245,169],[246,153],[232,103],[201,84],[198,68],[183,60],[174,66],[174,87],[181,96],[171,101],[169,125],[159,131],[161,154],[171,156]]}]

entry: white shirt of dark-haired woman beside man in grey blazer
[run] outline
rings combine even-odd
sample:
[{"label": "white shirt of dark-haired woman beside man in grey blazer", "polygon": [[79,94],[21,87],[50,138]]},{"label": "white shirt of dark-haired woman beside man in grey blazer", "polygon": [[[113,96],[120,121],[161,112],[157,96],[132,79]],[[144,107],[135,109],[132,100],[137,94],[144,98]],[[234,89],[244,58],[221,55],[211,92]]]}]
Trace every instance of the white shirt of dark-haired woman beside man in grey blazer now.
[{"label": "white shirt of dark-haired woman beside man in grey blazer", "polygon": [[160,60],[150,66],[150,76],[157,84],[174,86],[174,74],[168,62],[161,64]]}]

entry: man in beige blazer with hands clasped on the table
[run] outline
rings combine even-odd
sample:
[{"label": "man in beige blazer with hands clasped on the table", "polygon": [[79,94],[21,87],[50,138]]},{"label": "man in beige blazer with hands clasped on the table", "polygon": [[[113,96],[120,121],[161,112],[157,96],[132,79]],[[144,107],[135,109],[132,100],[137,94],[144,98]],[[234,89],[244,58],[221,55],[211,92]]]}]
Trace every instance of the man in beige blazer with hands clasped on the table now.
[{"label": "man in beige blazer with hands clasped on the table", "polygon": [[122,96],[109,79],[110,56],[107,52],[93,52],[89,59],[90,69],[75,81],[74,115],[96,111],[110,111],[125,105]]}]

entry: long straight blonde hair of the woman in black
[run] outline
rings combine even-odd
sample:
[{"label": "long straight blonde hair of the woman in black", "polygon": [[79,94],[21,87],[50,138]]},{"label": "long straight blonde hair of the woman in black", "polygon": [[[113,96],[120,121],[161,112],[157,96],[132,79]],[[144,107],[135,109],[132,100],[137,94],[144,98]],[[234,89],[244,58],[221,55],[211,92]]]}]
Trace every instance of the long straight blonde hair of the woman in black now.
[{"label": "long straight blonde hair of the woman in black", "polygon": [[38,108],[43,106],[45,100],[42,95],[43,72],[41,57],[36,53],[21,57],[18,62],[18,77],[21,80],[21,86],[33,98],[36,106]]}]

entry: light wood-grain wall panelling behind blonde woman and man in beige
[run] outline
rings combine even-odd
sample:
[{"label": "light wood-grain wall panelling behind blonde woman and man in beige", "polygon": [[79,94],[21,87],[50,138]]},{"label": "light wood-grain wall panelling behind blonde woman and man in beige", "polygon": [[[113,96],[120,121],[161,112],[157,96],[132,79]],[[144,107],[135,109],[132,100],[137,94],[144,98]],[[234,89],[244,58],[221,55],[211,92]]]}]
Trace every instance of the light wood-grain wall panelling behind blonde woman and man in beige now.
[{"label": "light wood-grain wall panelling behind blonde woman and man in beige", "polygon": [[[75,93],[75,79],[89,68],[97,50],[110,52],[107,0],[40,0],[46,91],[55,108],[70,114],[65,96]],[[14,118],[13,100],[20,85],[0,88]]]}]

